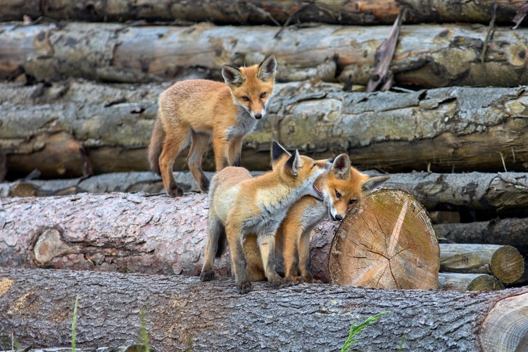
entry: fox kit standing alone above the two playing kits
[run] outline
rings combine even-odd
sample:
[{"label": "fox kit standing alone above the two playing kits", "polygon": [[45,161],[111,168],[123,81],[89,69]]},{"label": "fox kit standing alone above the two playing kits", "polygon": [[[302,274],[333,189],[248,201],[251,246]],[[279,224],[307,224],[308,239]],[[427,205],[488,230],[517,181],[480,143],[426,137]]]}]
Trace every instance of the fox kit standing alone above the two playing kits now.
[{"label": "fox kit standing alone above the two playing kits", "polygon": [[247,68],[223,65],[225,83],[184,80],[160,95],[149,145],[149,165],[161,175],[169,196],[183,195],[172,175],[172,164],[189,144],[187,164],[201,191],[209,188],[201,160],[211,135],[216,170],[240,165],[242,139],[266,112],[276,70],[273,56]]}]

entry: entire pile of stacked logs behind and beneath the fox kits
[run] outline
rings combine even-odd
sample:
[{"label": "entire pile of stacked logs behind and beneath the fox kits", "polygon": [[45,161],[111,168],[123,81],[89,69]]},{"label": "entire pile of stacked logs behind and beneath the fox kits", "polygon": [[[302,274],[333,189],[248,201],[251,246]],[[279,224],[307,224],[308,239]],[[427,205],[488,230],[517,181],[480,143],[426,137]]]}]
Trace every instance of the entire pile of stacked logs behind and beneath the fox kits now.
[{"label": "entire pile of stacked logs behind and beneath the fox kits", "polygon": [[[0,0],[0,8],[2,334],[67,345],[79,291],[81,347],[133,344],[139,314],[130,312],[147,307],[160,351],[337,349],[349,315],[387,306],[393,318],[358,348],[403,336],[410,350],[528,346],[518,308],[526,288],[508,288],[527,282],[528,255],[528,30],[517,1]],[[385,58],[392,87],[365,92],[402,13]],[[279,63],[275,96],[244,139],[242,165],[268,170],[275,139],[315,158],[346,152],[361,170],[390,175],[344,222],[317,227],[310,253],[324,282],[400,291],[256,284],[249,303],[231,279],[142,276],[198,275],[206,241],[206,195],[156,195],[163,186],[146,172],[158,94],[176,80],[221,80],[223,63],[266,54]],[[175,170],[187,168],[185,154]],[[211,151],[204,168],[213,171]],[[196,190],[187,172],[177,176]],[[442,221],[446,214],[455,220]],[[215,265],[230,275],[227,255]],[[422,305],[411,325],[409,305]],[[313,320],[268,328],[299,314]],[[255,319],[240,329],[241,317]],[[110,336],[91,321],[122,329]]]}]

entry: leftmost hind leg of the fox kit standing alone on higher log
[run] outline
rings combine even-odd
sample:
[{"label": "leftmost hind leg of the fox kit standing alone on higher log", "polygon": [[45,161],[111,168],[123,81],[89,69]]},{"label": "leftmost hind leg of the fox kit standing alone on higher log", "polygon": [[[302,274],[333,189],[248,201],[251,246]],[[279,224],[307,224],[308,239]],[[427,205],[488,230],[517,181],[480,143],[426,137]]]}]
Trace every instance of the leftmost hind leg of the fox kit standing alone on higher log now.
[{"label": "leftmost hind leg of the fox kit standing alone on higher log", "polygon": [[160,173],[167,194],[171,197],[183,196],[183,189],[177,186],[172,174],[172,164],[175,158],[189,145],[188,127],[173,127],[170,133],[165,135],[163,150],[159,158]]}]

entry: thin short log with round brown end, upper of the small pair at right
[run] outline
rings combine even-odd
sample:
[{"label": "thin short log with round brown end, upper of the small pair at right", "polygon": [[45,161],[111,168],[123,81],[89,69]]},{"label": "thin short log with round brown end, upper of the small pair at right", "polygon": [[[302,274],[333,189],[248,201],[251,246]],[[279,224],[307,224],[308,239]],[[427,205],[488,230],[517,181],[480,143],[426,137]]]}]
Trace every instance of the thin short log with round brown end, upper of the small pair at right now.
[{"label": "thin short log with round brown end, upper of the small pair at right", "polygon": [[492,274],[511,284],[522,276],[524,260],[513,246],[440,244],[440,271]]}]

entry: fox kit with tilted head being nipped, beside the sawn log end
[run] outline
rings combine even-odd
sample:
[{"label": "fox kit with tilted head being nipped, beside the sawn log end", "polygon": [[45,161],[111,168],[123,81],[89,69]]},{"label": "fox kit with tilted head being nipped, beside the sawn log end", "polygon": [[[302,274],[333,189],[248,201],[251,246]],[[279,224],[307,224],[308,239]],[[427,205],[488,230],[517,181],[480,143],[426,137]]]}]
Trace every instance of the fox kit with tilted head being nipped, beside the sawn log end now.
[{"label": "fox kit with tilted head being nipped, beside the sawn log end", "polygon": [[[367,194],[381,186],[388,176],[369,177],[351,167],[346,154],[340,154],[329,172],[315,181],[323,200],[303,196],[288,210],[275,236],[277,258],[284,260],[284,284],[314,282],[310,270],[310,232],[327,215],[332,220],[343,220],[347,211]],[[255,237],[244,242],[247,271],[251,281],[265,279],[262,259],[256,251]]]}]

